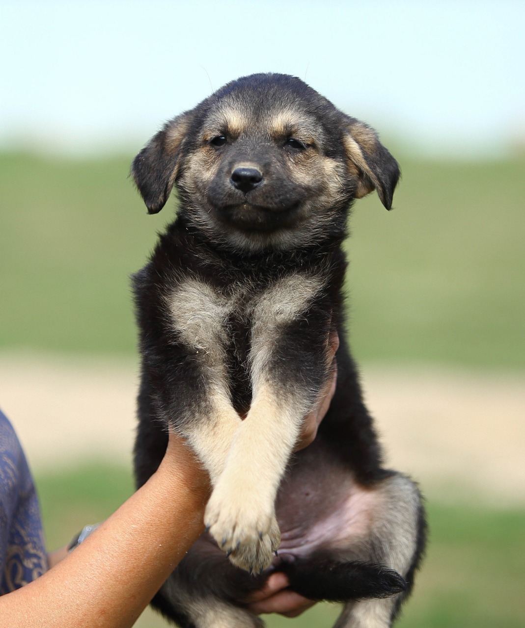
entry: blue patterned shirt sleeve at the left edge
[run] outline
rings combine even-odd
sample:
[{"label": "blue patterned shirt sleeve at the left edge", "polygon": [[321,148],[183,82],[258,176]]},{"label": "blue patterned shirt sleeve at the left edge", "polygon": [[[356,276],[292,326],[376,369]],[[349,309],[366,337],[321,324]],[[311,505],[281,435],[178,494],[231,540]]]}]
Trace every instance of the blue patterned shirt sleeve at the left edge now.
[{"label": "blue patterned shirt sleeve at the left edge", "polygon": [[0,411],[0,595],[47,571],[40,506],[13,426]]}]

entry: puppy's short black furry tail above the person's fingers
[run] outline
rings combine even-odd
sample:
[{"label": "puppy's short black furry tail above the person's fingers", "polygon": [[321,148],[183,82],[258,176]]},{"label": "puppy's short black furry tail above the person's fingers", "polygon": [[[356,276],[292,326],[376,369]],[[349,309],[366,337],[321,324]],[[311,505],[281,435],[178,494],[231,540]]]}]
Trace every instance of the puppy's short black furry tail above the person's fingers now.
[{"label": "puppy's short black furry tail above the person's fingers", "polygon": [[407,590],[406,581],[397,571],[377,563],[310,557],[284,560],[277,570],[288,576],[292,590],[311,600],[350,602],[390,597]]}]

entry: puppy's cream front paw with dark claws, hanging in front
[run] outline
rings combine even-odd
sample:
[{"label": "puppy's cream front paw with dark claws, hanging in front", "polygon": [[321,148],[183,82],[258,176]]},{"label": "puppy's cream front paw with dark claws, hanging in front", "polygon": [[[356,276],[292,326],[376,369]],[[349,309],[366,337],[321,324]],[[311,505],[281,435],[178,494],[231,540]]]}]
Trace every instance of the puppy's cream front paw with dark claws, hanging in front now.
[{"label": "puppy's cream front paw with dark claws, hanging in front", "polygon": [[204,524],[233,565],[262,571],[272,564],[280,543],[272,502],[265,504],[251,492],[229,492],[219,484],[207,504]]}]

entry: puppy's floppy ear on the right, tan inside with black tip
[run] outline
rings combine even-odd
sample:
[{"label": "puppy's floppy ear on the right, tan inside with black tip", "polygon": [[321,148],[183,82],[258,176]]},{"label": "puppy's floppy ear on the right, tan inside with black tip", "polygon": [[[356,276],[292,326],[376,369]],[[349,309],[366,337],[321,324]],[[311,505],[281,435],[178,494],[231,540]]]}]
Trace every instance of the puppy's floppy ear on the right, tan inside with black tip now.
[{"label": "puppy's floppy ear on the right, tan inside with black tip", "polygon": [[356,171],[356,198],[377,190],[383,205],[390,209],[395,186],[401,175],[399,165],[367,124],[345,116],[345,144],[348,168]]}]

